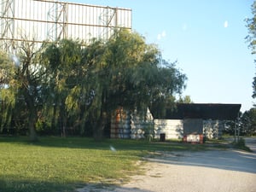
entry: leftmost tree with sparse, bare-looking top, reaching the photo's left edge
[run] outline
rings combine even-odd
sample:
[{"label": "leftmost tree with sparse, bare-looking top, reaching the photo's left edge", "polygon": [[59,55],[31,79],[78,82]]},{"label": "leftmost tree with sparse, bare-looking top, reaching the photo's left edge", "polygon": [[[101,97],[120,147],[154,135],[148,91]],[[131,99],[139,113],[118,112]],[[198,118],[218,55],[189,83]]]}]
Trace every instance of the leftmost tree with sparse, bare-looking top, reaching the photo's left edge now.
[{"label": "leftmost tree with sparse, bare-looking top, reaching the photo's left edge", "polygon": [[41,102],[41,79],[44,69],[39,65],[34,43],[26,40],[21,42],[17,51],[19,61],[15,56],[15,66],[11,58],[1,60],[1,126],[8,127],[10,122],[16,124],[20,119],[29,130],[32,141],[37,140],[35,125],[38,120],[38,112]]}]

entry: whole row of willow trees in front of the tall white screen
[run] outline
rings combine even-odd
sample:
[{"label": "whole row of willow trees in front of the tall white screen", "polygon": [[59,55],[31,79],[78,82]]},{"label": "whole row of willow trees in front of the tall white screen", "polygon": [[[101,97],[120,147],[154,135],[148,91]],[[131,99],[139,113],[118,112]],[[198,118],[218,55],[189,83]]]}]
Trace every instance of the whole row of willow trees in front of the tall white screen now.
[{"label": "whole row of willow trees in front of the tall white screen", "polygon": [[181,94],[186,76],[136,32],[108,41],[22,42],[15,64],[0,55],[0,131],[3,134],[94,136],[101,139],[121,107],[158,113]]}]

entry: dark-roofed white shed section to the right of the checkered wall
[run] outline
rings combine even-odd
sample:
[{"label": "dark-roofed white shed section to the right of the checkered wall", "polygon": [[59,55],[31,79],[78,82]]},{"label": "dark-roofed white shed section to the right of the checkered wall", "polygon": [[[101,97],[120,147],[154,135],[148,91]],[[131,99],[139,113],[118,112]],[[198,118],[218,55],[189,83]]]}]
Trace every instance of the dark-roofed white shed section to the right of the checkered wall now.
[{"label": "dark-roofed white shed section to the right of the checkered wall", "polygon": [[203,134],[207,138],[221,137],[225,120],[236,120],[241,104],[178,103],[167,108],[164,117],[154,116],[156,137],[181,138],[190,134]]}]

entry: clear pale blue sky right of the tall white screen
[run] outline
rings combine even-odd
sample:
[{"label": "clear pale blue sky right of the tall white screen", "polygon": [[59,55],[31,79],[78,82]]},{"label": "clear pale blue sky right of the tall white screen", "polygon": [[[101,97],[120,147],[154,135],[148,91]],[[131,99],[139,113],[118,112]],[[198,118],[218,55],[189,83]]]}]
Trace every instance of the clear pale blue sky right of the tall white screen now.
[{"label": "clear pale blue sky right of the tall white screen", "polygon": [[183,96],[196,103],[253,108],[255,55],[245,38],[253,0],[70,0],[132,9],[132,30],[157,44],[188,77]]}]

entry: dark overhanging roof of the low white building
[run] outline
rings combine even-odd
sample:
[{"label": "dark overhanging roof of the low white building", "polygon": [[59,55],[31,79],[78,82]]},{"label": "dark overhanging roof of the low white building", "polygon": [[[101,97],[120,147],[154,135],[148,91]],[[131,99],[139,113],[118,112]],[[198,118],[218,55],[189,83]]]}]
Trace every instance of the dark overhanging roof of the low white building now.
[{"label": "dark overhanging roof of the low white building", "polygon": [[220,119],[235,120],[241,104],[178,103],[166,110],[165,119]]}]

